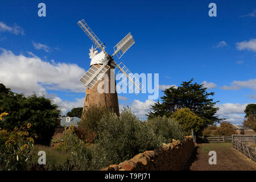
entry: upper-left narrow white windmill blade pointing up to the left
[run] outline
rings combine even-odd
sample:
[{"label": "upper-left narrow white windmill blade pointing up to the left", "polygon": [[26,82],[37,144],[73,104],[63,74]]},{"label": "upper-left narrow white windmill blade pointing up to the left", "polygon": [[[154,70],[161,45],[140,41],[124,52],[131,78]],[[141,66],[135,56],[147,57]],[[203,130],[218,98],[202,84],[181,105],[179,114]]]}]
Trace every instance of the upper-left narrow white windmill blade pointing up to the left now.
[{"label": "upper-left narrow white windmill blade pointing up to the left", "polygon": [[93,33],[93,31],[90,29],[90,27],[88,26],[88,24],[85,22],[84,19],[80,20],[77,24],[82,28],[82,30],[85,32],[85,34],[87,36],[89,36],[90,40],[92,40],[94,45],[98,49],[100,49],[100,51],[105,51],[104,44],[101,42],[101,40],[99,38],[97,38],[97,36]]}]

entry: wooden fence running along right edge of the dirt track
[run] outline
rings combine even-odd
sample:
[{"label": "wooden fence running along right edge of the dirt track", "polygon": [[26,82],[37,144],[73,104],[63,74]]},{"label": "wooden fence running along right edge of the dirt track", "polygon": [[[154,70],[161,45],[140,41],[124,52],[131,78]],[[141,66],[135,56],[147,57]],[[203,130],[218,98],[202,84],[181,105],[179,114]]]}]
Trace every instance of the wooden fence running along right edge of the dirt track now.
[{"label": "wooden fence running along right edge of the dirt track", "polygon": [[245,154],[248,158],[256,162],[256,147],[252,148],[245,142],[239,140],[233,140],[232,144],[233,148],[236,148],[238,151],[242,152],[242,154]]}]

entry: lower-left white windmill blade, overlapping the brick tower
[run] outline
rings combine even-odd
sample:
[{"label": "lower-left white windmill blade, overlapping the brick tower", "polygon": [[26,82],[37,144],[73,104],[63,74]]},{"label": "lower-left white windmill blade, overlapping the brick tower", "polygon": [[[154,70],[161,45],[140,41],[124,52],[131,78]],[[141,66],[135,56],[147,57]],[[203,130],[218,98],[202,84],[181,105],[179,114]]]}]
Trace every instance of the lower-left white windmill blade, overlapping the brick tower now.
[{"label": "lower-left white windmill blade, overlapping the brick tower", "polygon": [[109,70],[109,65],[102,64],[100,68],[93,65],[90,69],[79,79],[87,88],[92,89],[93,86],[101,80],[104,74]]}]

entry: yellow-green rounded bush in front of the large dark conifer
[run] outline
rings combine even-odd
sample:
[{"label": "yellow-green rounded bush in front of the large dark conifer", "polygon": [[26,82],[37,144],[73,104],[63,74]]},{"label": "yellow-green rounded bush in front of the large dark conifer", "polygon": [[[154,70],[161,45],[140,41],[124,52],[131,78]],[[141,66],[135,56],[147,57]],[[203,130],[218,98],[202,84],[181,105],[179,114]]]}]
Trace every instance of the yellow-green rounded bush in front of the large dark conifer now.
[{"label": "yellow-green rounded bush in front of the large dark conifer", "polygon": [[193,130],[196,135],[201,134],[204,128],[204,121],[189,108],[177,109],[174,114],[171,115],[182,126],[182,130],[185,135],[191,135]]}]

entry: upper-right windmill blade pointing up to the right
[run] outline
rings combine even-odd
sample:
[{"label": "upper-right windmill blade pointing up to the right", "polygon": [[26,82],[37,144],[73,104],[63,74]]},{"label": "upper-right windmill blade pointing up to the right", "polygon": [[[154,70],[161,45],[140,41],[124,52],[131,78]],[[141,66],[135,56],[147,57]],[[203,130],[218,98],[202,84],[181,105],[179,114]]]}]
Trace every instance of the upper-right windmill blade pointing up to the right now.
[{"label": "upper-right windmill blade pointing up to the right", "polygon": [[118,59],[134,44],[133,36],[131,33],[127,34],[117,45],[114,47],[114,53],[112,56],[117,55]]}]

